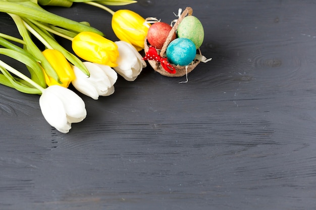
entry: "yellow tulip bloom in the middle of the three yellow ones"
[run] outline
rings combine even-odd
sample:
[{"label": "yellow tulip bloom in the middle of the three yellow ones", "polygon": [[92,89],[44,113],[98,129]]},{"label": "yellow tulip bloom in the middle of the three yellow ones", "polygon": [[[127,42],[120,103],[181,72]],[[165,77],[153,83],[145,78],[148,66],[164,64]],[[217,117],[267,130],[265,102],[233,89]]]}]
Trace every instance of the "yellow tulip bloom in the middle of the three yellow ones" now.
[{"label": "yellow tulip bloom in the middle of the three yellow ones", "polygon": [[118,46],[93,32],[81,32],[72,40],[72,49],[82,59],[111,67],[117,66]]}]

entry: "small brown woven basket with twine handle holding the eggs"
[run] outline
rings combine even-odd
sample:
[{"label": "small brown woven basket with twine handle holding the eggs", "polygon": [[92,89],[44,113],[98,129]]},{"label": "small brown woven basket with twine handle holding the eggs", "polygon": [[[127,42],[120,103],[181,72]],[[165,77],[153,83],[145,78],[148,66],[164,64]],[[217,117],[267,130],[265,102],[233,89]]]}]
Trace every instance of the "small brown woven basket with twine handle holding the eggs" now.
[{"label": "small brown woven basket with twine handle holding the eggs", "polygon": [[[164,43],[163,48],[160,50],[159,55],[161,57],[166,57],[166,49],[169,45],[169,43],[171,42],[172,36],[174,34],[174,32],[176,32],[178,25],[180,24],[180,22],[183,20],[183,18],[185,18],[185,16],[187,15],[192,15],[193,10],[190,7],[187,7],[183,13],[181,14],[181,16],[179,17],[179,19],[177,20],[177,22],[175,23],[175,25],[172,27],[166,42]],[[145,43],[144,43],[144,51],[145,53],[147,53],[148,49],[149,49],[150,45],[147,41],[147,37],[145,38]],[[197,49],[197,53],[199,53],[201,55],[201,51],[200,49]],[[167,76],[167,77],[182,77],[184,75],[187,75],[188,73],[190,73],[195,66],[197,66],[197,64],[199,64],[199,60],[194,59],[189,65],[187,66],[183,66],[183,65],[174,65],[172,64],[175,69],[176,69],[176,73],[175,74],[171,74],[169,72],[167,72],[162,65],[160,64],[160,62],[157,62],[155,60],[148,60],[148,63],[151,65],[151,67],[154,69],[154,71],[160,73],[163,76]]]}]

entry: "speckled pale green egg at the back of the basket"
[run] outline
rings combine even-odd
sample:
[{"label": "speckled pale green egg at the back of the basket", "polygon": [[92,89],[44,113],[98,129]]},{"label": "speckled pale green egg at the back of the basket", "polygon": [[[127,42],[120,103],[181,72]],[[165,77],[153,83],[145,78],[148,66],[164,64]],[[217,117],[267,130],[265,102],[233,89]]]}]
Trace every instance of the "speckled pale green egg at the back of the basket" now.
[{"label": "speckled pale green egg at the back of the basket", "polygon": [[186,16],[179,23],[177,30],[178,37],[190,39],[195,48],[198,49],[204,39],[204,29],[201,22],[194,16]]}]

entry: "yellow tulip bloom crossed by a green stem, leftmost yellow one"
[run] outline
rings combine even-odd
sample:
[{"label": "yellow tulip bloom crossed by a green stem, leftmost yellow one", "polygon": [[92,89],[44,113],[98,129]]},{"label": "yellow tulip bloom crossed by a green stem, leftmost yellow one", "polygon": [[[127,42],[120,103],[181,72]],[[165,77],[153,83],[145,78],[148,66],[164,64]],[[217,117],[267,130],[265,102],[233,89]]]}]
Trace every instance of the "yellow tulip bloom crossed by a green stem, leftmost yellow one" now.
[{"label": "yellow tulip bloom crossed by a green stem, leftmost yellow one", "polygon": [[68,88],[71,81],[76,79],[76,76],[66,57],[63,55],[63,53],[56,49],[45,49],[42,53],[52,68],[54,68],[59,80],[62,82],[62,84],[60,84],[55,79],[47,76],[44,71],[46,84],[48,86],[59,85]]}]

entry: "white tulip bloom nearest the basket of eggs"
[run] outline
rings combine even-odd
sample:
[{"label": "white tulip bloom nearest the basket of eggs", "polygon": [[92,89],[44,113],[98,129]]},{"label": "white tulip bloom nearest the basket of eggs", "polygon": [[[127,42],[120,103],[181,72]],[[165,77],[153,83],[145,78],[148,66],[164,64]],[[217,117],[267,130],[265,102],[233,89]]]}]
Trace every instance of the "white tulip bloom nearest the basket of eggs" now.
[{"label": "white tulip bloom nearest the basket of eggs", "polygon": [[146,62],[139,52],[125,41],[115,42],[119,49],[119,57],[117,58],[118,66],[114,67],[115,71],[127,81],[134,81],[141,73]]}]

